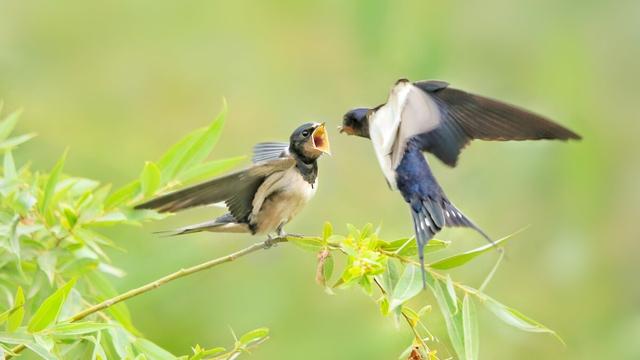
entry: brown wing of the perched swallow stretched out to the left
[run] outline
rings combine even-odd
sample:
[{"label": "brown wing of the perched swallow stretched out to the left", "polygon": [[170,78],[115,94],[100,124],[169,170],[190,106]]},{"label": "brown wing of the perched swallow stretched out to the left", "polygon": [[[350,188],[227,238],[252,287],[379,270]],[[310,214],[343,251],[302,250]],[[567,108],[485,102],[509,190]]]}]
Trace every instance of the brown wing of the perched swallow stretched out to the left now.
[{"label": "brown wing of the perched swallow stretched out to the left", "polygon": [[177,212],[224,201],[233,217],[244,221],[251,213],[253,197],[264,179],[294,164],[295,160],[290,157],[263,161],[246,170],[160,196],[135,208]]}]

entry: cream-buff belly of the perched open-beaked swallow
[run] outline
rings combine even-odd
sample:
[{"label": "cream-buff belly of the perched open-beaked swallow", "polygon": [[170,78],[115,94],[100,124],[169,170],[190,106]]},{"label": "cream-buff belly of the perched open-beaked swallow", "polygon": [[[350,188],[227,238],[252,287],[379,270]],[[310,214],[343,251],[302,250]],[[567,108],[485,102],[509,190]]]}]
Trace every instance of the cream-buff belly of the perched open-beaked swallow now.
[{"label": "cream-buff belly of the perched open-beaked swallow", "polygon": [[316,192],[298,173],[285,174],[251,217],[256,234],[268,234],[293,219]]}]

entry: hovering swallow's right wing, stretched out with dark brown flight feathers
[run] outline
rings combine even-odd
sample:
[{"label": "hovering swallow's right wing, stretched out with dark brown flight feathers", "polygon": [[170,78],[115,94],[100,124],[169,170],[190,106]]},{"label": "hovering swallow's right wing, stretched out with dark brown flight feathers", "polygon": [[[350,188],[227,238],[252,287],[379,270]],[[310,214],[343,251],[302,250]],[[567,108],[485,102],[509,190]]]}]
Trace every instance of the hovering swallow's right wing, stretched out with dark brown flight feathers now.
[{"label": "hovering swallow's right wing, stretched out with dark brown flight feathers", "polygon": [[473,139],[580,139],[543,116],[448,85],[442,81],[413,84],[402,114],[397,149],[402,150],[416,136],[424,151],[455,166],[461,150]]}]

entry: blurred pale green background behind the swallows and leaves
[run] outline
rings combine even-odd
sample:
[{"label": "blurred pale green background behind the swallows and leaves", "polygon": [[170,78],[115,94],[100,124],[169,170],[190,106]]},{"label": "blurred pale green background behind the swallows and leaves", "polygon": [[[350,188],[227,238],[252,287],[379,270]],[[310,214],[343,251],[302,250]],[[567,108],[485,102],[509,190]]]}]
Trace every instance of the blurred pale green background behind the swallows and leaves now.
[{"label": "blurred pale green background behind the swallows and leaves", "polygon": [[[580,143],[474,143],[458,168],[431,163],[449,197],[508,244],[488,292],[557,330],[521,333],[481,316],[484,359],[640,358],[640,214],[635,108],[640,2],[606,1],[7,1],[0,0],[0,98],[24,107],[36,141],[16,154],[116,185],[230,107],[216,157],[284,140],[306,121],[338,125],[376,105],[400,77],[437,78],[531,108]],[[313,203],[288,227],[329,220],[411,233],[370,144],[333,131]],[[205,209],[114,235],[120,290],[229,253],[237,235],[158,238],[151,231],[213,216]],[[483,244],[446,230],[454,250]],[[477,286],[495,254],[455,272]],[[392,359],[410,342],[358,290],[326,295],[315,257],[292,246],[180,280],[129,302],[138,327],[177,354],[224,345],[229,328],[271,328],[256,359]],[[428,298],[422,299],[423,301]],[[446,339],[438,312],[428,316]],[[440,353],[446,357],[446,353]]]}]

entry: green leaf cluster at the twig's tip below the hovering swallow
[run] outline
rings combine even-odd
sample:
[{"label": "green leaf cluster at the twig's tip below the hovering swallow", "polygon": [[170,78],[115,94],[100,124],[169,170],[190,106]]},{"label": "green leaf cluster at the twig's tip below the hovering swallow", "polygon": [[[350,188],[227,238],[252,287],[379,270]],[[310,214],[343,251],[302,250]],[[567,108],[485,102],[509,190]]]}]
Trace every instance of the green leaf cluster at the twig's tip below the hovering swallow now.
[{"label": "green leaf cluster at the twig's tip below the hovering swallow", "polygon": [[[406,322],[412,330],[413,341],[401,355],[412,359],[437,359],[438,339],[432,335],[424,318],[431,314],[432,304],[423,296],[419,263],[414,256],[418,249],[413,238],[386,241],[379,237],[371,224],[358,229],[347,225],[345,235],[334,234],[326,223],[321,237],[289,237],[288,241],[318,254],[316,280],[333,294],[336,289],[358,287],[372,297],[384,316]],[[557,334],[521,312],[487,295],[483,289],[495,273],[503,252],[499,252],[496,266],[479,289],[456,282],[443,271],[466,265],[473,259],[495,250],[511,236],[459,254],[441,257],[426,265],[427,288],[437,304],[446,324],[449,342],[459,359],[477,359],[479,331],[476,305],[481,305],[504,323],[529,332]],[[449,242],[432,239],[425,253],[438,255]],[[342,259],[338,259],[342,258]],[[336,271],[337,260],[344,263]],[[337,276],[334,276],[337,273]],[[560,340],[562,341],[562,340]]]}]

